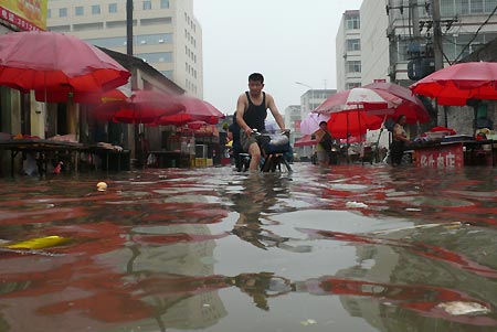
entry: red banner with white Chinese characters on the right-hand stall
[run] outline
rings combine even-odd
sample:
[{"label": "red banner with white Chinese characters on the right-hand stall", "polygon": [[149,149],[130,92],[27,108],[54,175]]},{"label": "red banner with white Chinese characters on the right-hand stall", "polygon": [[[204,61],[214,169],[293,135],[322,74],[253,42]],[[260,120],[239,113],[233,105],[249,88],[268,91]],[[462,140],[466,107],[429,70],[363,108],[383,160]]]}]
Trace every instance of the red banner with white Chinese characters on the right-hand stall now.
[{"label": "red banner with white Chinese characters on the right-hand stall", "polygon": [[419,168],[453,170],[464,165],[463,143],[426,147],[415,153]]}]

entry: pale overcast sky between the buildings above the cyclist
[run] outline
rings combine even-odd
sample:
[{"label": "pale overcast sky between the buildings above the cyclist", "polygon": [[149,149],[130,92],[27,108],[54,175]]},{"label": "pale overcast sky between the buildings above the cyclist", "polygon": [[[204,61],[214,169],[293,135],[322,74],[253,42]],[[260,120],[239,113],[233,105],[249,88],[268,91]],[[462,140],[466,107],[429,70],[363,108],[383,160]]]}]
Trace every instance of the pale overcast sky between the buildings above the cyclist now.
[{"label": "pale overcast sky between the buildings above the cyclist", "polygon": [[335,39],[346,10],[362,0],[194,0],[202,26],[203,99],[233,114],[260,72],[283,114],[306,86],[336,88]]}]

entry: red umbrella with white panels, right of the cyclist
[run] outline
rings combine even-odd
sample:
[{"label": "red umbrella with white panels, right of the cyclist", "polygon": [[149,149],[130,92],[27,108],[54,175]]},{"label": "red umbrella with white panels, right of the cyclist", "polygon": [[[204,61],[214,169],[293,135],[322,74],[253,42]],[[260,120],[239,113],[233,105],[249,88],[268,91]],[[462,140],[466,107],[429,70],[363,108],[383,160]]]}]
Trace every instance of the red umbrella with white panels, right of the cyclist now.
[{"label": "red umbrella with white panels, right of the cyclist", "polygon": [[401,98],[388,92],[356,87],[331,95],[313,113],[330,114],[349,109],[385,109],[396,107],[401,103]]}]

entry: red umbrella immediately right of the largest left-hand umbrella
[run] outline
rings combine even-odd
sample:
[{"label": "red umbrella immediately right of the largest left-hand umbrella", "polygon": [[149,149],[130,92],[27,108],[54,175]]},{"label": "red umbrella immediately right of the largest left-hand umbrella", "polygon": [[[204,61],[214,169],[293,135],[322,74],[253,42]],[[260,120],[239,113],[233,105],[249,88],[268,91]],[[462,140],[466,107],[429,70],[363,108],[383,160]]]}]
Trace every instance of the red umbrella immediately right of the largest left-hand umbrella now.
[{"label": "red umbrella immediately right of the largest left-hand umbrella", "polygon": [[105,121],[123,124],[152,124],[165,115],[183,109],[175,96],[155,90],[135,90],[126,101],[106,103],[93,109],[93,115]]}]

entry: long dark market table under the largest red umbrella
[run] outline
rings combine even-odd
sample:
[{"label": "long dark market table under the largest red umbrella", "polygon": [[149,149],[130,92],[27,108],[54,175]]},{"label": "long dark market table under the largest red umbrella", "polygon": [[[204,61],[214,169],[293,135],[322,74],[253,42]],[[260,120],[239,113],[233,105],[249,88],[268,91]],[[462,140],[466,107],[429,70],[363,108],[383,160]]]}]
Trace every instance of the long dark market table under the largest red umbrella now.
[{"label": "long dark market table under the largest red umbrella", "polygon": [[49,139],[8,139],[0,140],[0,150],[10,150],[10,169],[11,175],[14,175],[14,159],[19,152],[38,153],[36,165],[40,175],[46,173],[46,165],[49,160],[55,159],[54,157],[60,157],[61,152],[66,152],[70,158],[74,158],[74,168],[77,172],[77,160],[80,149],[83,147],[81,143],[56,141]]}]

